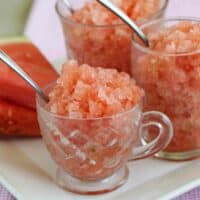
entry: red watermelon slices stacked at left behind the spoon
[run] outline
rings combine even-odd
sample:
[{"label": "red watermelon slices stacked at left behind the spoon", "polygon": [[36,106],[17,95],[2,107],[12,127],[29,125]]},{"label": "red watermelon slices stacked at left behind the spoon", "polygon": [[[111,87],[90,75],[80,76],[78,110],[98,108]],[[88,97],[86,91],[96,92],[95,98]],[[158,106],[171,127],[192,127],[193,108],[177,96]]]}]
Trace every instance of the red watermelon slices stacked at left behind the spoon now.
[{"label": "red watermelon slices stacked at left behind the spoon", "polygon": [[[55,81],[57,72],[25,37],[0,40],[5,51],[40,87]],[[40,136],[34,90],[0,62],[0,136]]]}]

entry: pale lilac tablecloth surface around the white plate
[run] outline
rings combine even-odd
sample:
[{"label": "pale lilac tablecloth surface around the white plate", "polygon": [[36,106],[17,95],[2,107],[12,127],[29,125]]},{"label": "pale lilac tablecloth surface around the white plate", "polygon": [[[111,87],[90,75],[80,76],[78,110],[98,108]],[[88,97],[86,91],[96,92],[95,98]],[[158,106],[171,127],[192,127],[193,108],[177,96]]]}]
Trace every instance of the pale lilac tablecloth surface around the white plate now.
[{"label": "pale lilac tablecloth surface around the white plate", "polygon": [[[78,1],[76,0],[77,3]],[[35,0],[26,27],[26,34],[50,61],[65,56],[64,38],[54,9],[55,2],[56,0]],[[200,17],[199,9],[200,0],[170,0],[167,16]],[[1,185],[0,200],[14,200]],[[200,187],[174,200],[200,200]]]}]

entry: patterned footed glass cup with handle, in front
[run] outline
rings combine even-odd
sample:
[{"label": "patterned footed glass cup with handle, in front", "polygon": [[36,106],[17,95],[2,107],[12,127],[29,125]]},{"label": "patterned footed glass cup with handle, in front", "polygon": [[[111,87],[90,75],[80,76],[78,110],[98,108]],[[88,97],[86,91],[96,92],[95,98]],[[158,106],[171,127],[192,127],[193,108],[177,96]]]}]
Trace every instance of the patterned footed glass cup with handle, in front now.
[{"label": "patterned footed glass cup with handle, in front", "polygon": [[[47,94],[53,85],[44,90]],[[57,163],[57,183],[75,193],[99,194],[123,185],[127,160],[149,157],[165,148],[173,128],[163,113],[142,113],[142,99],[132,109],[110,117],[72,119],[50,113],[37,96],[43,140]],[[149,129],[155,128],[152,137]],[[142,144],[136,147],[138,141]]]}]

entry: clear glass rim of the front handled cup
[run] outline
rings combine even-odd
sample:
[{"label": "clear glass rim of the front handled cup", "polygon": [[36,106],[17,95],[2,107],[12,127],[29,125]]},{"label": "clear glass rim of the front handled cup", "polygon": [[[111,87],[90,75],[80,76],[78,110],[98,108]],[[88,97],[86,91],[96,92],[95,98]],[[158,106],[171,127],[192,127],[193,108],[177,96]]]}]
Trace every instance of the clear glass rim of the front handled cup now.
[{"label": "clear glass rim of the front handled cup", "polygon": [[[52,87],[53,85],[56,84],[56,81],[51,82],[49,84],[47,84],[44,88],[43,91],[45,92],[45,90],[47,90],[48,88]],[[121,115],[125,115],[128,114],[130,112],[135,112],[135,110],[137,110],[138,108],[140,108],[143,105],[143,100],[144,100],[144,96],[141,96],[140,100],[137,102],[136,105],[134,105],[131,109],[126,110],[126,111],[122,111],[119,113],[116,113],[114,115],[110,115],[110,116],[104,116],[104,117],[89,117],[89,118],[73,118],[73,117],[68,117],[68,116],[63,116],[63,115],[58,115],[56,113],[52,113],[50,111],[48,111],[47,108],[45,108],[45,106],[43,106],[42,104],[45,104],[45,101],[39,96],[39,94],[36,94],[36,108],[37,108],[37,112],[38,109],[42,110],[42,112],[44,112],[45,114],[50,115],[51,117],[57,118],[57,119],[65,119],[65,120],[76,120],[76,121],[96,121],[96,120],[108,120],[108,119],[112,119],[112,118],[117,118],[120,117]],[[142,111],[141,111],[142,112]]]}]

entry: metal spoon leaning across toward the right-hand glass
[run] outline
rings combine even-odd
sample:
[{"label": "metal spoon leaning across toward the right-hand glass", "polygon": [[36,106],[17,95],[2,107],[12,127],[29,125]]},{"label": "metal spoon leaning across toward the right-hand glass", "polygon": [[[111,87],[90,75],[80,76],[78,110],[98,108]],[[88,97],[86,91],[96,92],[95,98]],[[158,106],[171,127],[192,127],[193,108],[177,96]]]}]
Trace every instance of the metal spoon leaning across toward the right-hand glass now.
[{"label": "metal spoon leaning across toward the right-hand glass", "polygon": [[100,4],[104,7],[109,9],[115,15],[117,15],[122,21],[124,21],[137,35],[138,37],[144,42],[146,46],[149,46],[149,40],[143,31],[130,19],[120,8],[115,6],[109,0],[97,0]]}]

